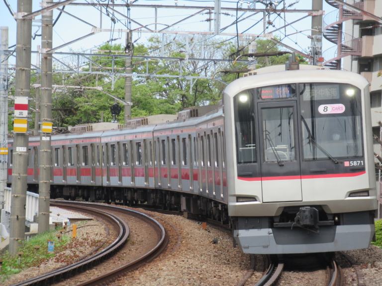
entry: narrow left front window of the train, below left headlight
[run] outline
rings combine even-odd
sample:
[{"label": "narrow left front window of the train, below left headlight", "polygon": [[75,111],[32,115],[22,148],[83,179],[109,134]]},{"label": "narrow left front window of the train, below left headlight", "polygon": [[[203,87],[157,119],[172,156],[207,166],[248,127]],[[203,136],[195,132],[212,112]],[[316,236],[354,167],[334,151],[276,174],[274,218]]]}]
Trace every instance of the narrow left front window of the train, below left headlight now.
[{"label": "narrow left front window of the train, below left headlight", "polygon": [[256,163],[255,104],[249,90],[235,95],[233,99],[238,164]]}]

